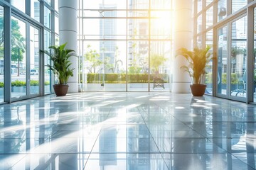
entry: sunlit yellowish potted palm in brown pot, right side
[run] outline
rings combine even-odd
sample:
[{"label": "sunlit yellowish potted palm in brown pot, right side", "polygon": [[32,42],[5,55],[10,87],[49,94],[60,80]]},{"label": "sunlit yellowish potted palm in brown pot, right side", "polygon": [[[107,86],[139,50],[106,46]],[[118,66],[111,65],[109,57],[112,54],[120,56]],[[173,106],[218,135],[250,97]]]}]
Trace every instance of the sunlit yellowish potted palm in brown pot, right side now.
[{"label": "sunlit yellowish potted palm in brown pot, right side", "polygon": [[182,47],[176,51],[176,56],[183,56],[188,64],[181,68],[188,72],[191,77],[192,84],[191,93],[193,96],[203,96],[206,91],[206,85],[202,80],[206,74],[206,64],[213,59],[212,52],[210,52],[211,45],[206,45],[206,48],[194,47],[192,51]]}]

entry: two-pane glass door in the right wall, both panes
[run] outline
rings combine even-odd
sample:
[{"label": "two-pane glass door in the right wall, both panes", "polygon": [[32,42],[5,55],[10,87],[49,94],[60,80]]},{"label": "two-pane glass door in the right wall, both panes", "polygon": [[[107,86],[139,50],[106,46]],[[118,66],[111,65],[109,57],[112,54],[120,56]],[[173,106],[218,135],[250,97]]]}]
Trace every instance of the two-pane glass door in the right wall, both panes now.
[{"label": "two-pane glass door in the right wall, both panes", "polygon": [[247,60],[247,16],[217,29],[217,96],[245,101]]}]

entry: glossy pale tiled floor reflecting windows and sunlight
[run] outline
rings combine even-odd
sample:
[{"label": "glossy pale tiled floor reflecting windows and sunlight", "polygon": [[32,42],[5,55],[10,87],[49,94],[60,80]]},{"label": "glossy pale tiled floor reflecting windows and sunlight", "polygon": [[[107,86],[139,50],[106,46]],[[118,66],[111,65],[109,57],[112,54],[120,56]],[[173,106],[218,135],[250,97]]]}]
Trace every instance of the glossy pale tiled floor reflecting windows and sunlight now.
[{"label": "glossy pale tiled floor reflecting windows and sunlight", "polygon": [[80,93],[0,106],[0,169],[255,169],[256,105]]}]

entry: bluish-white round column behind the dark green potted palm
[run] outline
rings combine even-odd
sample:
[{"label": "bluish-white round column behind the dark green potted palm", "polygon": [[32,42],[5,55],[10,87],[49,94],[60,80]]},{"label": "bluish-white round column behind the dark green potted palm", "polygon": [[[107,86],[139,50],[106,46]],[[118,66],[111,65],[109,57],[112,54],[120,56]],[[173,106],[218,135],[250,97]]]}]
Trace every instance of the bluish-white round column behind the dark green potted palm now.
[{"label": "bluish-white round column behind the dark green potted palm", "polygon": [[[78,52],[78,29],[77,29],[77,0],[59,0],[59,28],[60,28],[60,45],[68,42],[66,48]],[[73,77],[68,79],[68,93],[78,92],[78,57],[70,57],[71,68],[75,68]]]}]

